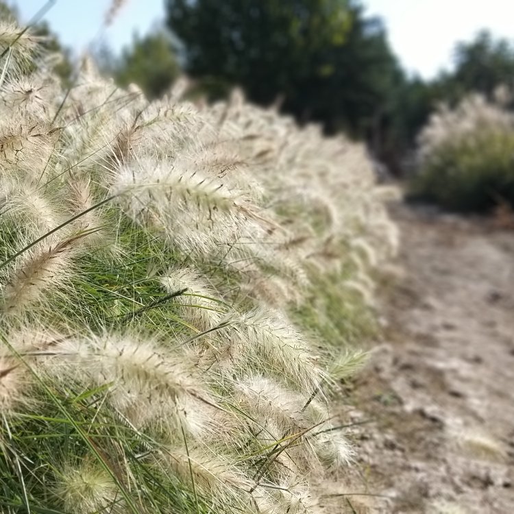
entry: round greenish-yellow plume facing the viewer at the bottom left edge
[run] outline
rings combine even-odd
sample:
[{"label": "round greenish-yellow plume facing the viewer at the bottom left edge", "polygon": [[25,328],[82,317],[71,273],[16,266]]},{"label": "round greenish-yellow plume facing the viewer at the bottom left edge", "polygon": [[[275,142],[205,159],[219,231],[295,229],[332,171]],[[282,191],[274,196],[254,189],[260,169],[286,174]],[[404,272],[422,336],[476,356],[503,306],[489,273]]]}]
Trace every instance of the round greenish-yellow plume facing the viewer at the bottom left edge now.
[{"label": "round greenish-yellow plume facing the viewer at the bottom left edge", "polygon": [[107,472],[95,462],[85,460],[66,464],[58,472],[53,494],[66,512],[91,514],[127,512],[123,497]]}]

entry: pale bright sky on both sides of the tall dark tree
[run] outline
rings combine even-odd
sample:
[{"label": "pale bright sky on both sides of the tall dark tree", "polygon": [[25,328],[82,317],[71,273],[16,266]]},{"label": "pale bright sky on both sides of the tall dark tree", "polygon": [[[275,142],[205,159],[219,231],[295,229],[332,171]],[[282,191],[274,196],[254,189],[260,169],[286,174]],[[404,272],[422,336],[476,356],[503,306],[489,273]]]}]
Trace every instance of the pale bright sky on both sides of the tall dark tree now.
[{"label": "pale bright sky on both sides of the tall dark tree", "polygon": [[[223,0],[219,0],[223,1]],[[13,3],[13,0],[10,0]],[[27,21],[45,0],[15,1]],[[127,0],[111,27],[102,29],[111,0],[57,0],[45,16],[64,44],[79,52],[99,39],[119,51],[134,31],[145,34],[162,22],[164,0]],[[451,64],[458,40],[481,28],[514,40],[513,0],[363,0],[368,14],[387,25],[393,50],[406,69],[433,77]]]}]

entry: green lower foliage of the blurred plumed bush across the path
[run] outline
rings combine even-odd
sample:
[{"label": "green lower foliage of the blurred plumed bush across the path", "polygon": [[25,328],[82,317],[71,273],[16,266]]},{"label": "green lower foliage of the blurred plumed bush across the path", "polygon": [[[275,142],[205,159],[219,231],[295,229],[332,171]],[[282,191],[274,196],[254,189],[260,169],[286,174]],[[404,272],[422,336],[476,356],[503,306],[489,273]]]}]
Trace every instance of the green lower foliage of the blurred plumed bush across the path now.
[{"label": "green lower foliage of the blurred plumed bush across the path", "polygon": [[482,130],[441,145],[413,179],[413,195],[458,211],[514,206],[514,132]]}]

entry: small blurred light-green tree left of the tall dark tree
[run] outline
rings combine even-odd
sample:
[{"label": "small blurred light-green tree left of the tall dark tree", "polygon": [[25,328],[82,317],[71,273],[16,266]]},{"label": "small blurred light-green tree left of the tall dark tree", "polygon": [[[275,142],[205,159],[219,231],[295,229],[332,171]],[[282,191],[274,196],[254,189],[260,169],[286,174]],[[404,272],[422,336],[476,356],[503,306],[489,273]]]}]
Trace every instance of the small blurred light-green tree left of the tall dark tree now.
[{"label": "small blurred light-green tree left of the tall dark tree", "polygon": [[169,36],[164,32],[143,38],[134,36],[114,62],[114,78],[120,86],[137,84],[149,99],[160,97],[180,75],[180,66]]}]

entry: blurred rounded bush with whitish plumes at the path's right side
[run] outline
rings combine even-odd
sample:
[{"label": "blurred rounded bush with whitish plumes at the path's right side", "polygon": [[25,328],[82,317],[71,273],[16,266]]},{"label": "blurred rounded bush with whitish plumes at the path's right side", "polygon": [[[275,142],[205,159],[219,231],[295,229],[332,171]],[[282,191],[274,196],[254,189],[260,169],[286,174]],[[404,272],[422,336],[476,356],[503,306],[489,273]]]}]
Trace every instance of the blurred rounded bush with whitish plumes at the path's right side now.
[{"label": "blurred rounded bush with whitish plumes at the path's right side", "polygon": [[514,206],[514,117],[499,101],[473,95],[440,108],[421,132],[419,154],[413,196],[457,211]]}]

